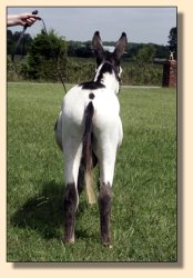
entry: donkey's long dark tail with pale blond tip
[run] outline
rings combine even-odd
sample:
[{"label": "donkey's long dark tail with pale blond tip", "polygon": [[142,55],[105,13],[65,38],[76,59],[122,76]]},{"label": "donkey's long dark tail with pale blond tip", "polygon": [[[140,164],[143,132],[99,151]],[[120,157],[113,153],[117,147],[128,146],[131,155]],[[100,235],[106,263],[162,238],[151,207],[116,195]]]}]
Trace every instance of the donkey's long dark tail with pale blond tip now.
[{"label": "donkey's long dark tail with pale blond tip", "polygon": [[85,129],[83,133],[83,148],[82,157],[84,161],[84,181],[85,189],[89,198],[89,203],[95,202],[95,195],[93,191],[93,181],[92,181],[92,118],[94,115],[94,107],[92,101],[85,108]]}]

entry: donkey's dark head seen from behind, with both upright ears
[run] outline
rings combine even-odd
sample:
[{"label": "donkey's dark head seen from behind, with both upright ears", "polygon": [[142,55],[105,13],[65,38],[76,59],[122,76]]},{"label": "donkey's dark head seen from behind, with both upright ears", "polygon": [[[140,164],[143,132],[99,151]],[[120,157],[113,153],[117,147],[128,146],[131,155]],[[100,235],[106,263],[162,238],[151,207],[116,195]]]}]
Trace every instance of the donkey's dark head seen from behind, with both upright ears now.
[{"label": "donkey's dark head seen from behind, with both upright ears", "polygon": [[94,50],[94,54],[96,57],[96,66],[99,67],[101,63],[108,61],[112,63],[119,75],[121,73],[120,61],[128,46],[128,39],[125,32],[122,32],[121,38],[116,42],[114,51],[111,53],[105,51],[102,44],[102,40],[100,38],[100,32],[95,31],[92,38],[92,48]]}]

